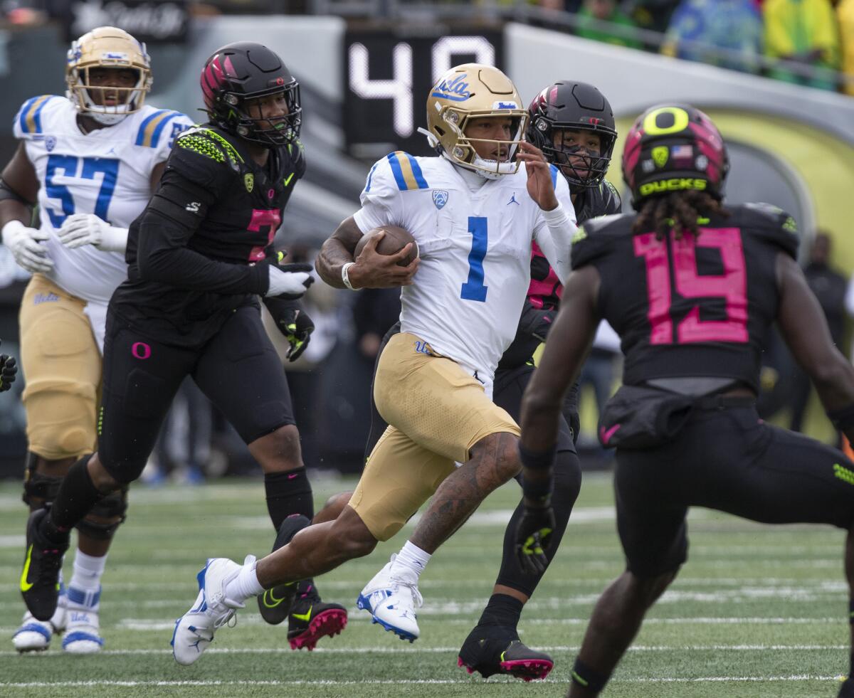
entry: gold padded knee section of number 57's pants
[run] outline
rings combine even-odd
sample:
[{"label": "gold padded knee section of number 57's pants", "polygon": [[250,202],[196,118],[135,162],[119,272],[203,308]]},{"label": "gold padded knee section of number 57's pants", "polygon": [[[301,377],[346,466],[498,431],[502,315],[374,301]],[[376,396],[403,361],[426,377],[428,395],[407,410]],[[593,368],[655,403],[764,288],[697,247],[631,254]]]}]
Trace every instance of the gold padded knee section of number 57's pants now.
[{"label": "gold padded knee section of number 57's pants", "polygon": [[48,460],[78,458],[95,448],[95,387],[61,380],[31,381],[24,390],[26,437]]}]

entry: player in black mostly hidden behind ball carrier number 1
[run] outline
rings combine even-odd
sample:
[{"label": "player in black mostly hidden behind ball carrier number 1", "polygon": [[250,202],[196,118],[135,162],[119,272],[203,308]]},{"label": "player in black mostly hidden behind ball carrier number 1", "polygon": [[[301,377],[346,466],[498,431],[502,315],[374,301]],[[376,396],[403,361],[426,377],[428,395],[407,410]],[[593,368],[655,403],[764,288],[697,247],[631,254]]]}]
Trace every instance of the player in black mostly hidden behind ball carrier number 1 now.
[{"label": "player in black mostly hidden behind ball carrier number 1", "polygon": [[[526,138],[559,166],[570,185],[570,197],[578,223],[588,218],[617,213],[621,208],[617,189],[605,180],[617,131],[611,104],[594,85],[561,80],[549,85],[528,108]],[[532,358],[546,339],[560,302],[563,287],[536,242],[531,251],[531,282],[518,323],[516,337],[507,347],[495,371],[494,402],[518,420],[522,393],[534,372]],[[383,338],[383,346],[401,331],[398,322]],[[376,367],[375,367],[376,368]],[[570,424],[560,418],[560,443],[555,461],[553,547],[557,550],[581,487],[581,464],[576,453],[578,437],[577,385],[568,398]],[[371,433],[366,457],[373,451],[388,424],[371,396]],[[519,568],[514,549],[516,522],[523,513],[520,503],[506,529],[504,555],[492,596],[477,626],[459,651],[460,666],[483,677],[507,673],[522,679],[545,678],[553,668],[547,654],[529,649],[519,640],[517,625],[524,604],[534,593],[545,569]]]}]

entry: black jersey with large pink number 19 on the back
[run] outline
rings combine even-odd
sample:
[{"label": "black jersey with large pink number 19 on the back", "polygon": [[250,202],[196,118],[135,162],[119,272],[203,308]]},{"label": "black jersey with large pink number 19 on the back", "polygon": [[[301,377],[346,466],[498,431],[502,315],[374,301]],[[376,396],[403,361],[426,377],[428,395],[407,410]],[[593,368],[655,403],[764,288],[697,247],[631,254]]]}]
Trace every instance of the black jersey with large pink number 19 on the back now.
[{"label": "black jersey with large pink number 19 on the back", "polygon": [[709,376],[758,390],[778,305],[775,259],[780,252],[795,258],[797,228],[775,206],[729,210],[701,219],[697,237],[633,234],[634,214],[579,230],[572,267],[599,270],[599,310],[622,340],[623,383]]}]

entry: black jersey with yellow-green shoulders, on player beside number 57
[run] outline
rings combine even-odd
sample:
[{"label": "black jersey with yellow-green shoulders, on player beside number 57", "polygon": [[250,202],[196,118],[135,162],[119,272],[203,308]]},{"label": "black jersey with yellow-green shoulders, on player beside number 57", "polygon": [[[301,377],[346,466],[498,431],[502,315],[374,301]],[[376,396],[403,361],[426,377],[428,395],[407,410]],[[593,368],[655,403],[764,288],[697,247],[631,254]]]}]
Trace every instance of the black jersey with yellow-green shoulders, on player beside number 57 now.
[{"label": "black jersey with yellow-green shoulders, on player beside number 57", "polygon": [[[273,253],[284,207],[305,169],[298,141],[271,149],[260,166],[225,131],[184,131],[152,201],[131,224],[128,280],[111,308],[180,337],[182,345],[211,336],[231,311],[257,303],[255,294],[266,290],[266,269],[250,267]],[[165,212],[169,224],[151,224],[163,219],[146,218],[149,211]]]}]

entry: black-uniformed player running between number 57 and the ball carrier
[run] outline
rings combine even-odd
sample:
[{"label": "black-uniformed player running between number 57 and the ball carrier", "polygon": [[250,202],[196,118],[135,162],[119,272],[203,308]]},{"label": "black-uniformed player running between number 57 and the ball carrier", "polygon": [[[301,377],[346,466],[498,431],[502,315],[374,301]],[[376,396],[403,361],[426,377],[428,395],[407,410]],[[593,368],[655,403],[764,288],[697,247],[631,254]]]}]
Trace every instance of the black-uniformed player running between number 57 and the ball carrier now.
[{"label": "black-uniformed player running between number 57 and the ball carrier", "polygon": [[[201,83],[209,122],[176,139],[155,195],[131,225],[128,280],[109,303],[97,453],[73,464],[50,512],[27,525],[21,589],[37,619],[54,613],[69,528],[139,477],[187,375],[260,462],[273,526],[313,515],[288,384],[258,304],[264,296],[290,358],[299,356],[313,325],[295,300],[312,268],[280,266],[272,247],[306,167],[299,84],[278,55],[251,42],[216,51]],[[272,623],[290,616],[294,649],[313,649],[347,622],[310,580],[279,590],[261,611]]]}]

